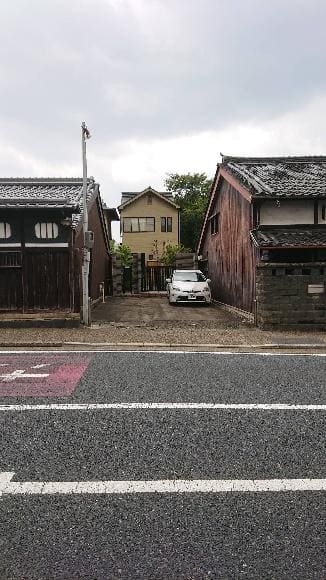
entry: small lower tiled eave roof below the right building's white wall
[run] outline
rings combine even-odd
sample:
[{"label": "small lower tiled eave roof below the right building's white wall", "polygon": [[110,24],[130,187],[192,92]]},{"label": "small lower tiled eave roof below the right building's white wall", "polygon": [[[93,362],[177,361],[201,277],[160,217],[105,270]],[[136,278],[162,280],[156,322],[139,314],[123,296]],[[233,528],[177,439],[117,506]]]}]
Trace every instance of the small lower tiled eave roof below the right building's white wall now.
[{"label": "small lower tiled eave roof below the right building's white wall", "polygon": [[252,230],[250,235],[259,248],[326,247],[326,227],[264,228]]}]

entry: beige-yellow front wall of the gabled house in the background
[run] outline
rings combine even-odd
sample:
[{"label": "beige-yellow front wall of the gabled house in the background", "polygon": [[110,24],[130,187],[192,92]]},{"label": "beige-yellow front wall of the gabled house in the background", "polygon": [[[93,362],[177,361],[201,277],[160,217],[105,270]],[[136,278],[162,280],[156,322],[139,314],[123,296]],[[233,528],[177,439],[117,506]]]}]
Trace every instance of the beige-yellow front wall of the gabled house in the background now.
[{"label": "beige-yellow front wall of the gabled house in the background", "polygon": [[[151,199],[152,203],[148,204],[147,195],[144,194],[121,210],[122,243],[129,246],[133,254],[144,253],[146,261],[150,255],[157,260],[167,244],[174,245],[179,242],[179,211],[154,193]],[[123,220],[126,217],[154,217],[155,231],[124,232]],[[172,217],[172,232],[161,232],[161,217]]]}]

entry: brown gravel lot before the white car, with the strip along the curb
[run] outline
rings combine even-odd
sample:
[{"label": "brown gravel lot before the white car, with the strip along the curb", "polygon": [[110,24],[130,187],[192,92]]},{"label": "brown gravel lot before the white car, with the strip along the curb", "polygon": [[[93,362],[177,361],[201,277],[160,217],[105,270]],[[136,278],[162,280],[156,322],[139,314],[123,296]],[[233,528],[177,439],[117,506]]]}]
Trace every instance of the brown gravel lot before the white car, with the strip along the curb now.
[{"label": "brown gravel lot before the white car, with the strip along the curb", "polygon": [[225,346],[325,345],[326,333],[263,331],[220,306],[170,306],[164,297],[115,297],[93,310],[91,328],[1,328],[2,348],[62,343],[159,343]]}]

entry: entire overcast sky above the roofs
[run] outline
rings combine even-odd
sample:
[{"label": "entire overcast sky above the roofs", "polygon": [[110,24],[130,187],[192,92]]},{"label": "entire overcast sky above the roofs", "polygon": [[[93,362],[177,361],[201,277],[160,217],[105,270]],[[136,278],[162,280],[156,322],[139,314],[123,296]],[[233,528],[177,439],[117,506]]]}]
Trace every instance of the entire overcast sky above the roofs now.
[{"label": "entire overcast sky above the roofs", "polygon": [[0,22],[2,177],[81,176],[82,121],[110,207],[220,152],[326,154],[325,0],[7,0]]}]

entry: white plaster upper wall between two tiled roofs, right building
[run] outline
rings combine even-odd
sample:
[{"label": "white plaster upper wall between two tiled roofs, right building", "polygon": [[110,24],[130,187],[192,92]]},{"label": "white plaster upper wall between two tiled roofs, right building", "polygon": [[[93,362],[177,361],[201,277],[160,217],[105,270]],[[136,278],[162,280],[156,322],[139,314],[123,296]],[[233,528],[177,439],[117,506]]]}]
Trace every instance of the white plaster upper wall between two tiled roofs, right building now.
[{"label": "white plaster upper wall between two tiled roofs, right building", "polygon": [[313,200],[283,201],[280,199],[279,203],[280,205],[277,206],[274,200],[263,201],[260,208],[261,225],[294,225],[314,223]]}]

